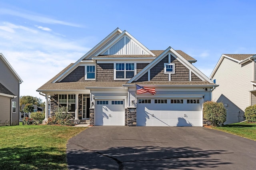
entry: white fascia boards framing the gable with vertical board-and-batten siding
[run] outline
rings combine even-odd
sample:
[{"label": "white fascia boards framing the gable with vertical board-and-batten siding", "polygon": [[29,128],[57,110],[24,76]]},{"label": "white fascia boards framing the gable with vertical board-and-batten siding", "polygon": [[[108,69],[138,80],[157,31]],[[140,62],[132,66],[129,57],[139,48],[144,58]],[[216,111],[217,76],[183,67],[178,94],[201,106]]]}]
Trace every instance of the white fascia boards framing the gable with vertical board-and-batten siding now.
[{"label": "white fascia boards framing the gable with vertical board-and-batten siding", "polygon": [[112,43],[108,44],[106,47],[104,47],[102,50],[100,50],[98,53],[95,54],[95,56],[100,55],[100,53],[102,53],[103,51],[106,51],[106,49],[110,48],[111,46],[113,46],[116,42],[118,42],[119,40],[121,40],[124,36],[128,36],[131,38],[132,41],[134,41],[135,43],[137,43],[138,45],[140,45],[145,51],[147,51],[150,55],[156,56],[154,53],[152,53],[147,47],[145,47],[142,43],[140,43],[138,40],[136,40],[131,34],[129,34],[126,30],[124,30],[118,37],[116,37]]}]

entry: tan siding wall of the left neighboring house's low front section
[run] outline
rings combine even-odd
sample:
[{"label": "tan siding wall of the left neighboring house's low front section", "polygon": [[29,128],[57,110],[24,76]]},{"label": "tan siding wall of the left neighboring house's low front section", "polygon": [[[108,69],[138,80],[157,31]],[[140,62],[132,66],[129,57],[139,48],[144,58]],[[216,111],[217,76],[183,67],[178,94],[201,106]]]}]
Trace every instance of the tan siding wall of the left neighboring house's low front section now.
[{"label": "tan siding wall of the left neighboring house's low front section", "polygon": [[0,95],[0,126],[10,125],[10,114],[11,114],[11,99]]}]

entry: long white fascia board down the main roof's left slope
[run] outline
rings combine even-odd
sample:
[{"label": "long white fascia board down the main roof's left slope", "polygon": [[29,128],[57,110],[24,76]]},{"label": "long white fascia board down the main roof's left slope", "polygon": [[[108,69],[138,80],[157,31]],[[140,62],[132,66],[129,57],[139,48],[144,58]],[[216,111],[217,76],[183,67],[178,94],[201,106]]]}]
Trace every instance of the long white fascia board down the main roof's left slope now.
[{"label": "long white fascia board down the main roof's left slope", "polygon": [[113,36],[114,34],[116,34],[117,32],[119,32],[120,34],[122,34],[122,31],[119,28],[116,28],[116,30],[114,30],[112,33],[110,33],[106,38],[104,38],[100,43],[98,43],[95,47],[93,47],[90,51],[88,51],[85,55],[83,55],[80,59],[78,59],[78,61],[76,61],[71,67],[69,67],[66,71],[64,71],[64,73],[62,73],[60,76],[58,76],[54,81],[52,81],[52,83],[55,83],[56,81],[58,81],[62,76],[64,76],[66,73],[70,72],[70,70],[75,67],[76,65],[78,65],[78,63],[80,63],[82,61],[82,59],[89,57],[89,54],[92,53],[95,49],[97,49],[104,41],[106,41],[108,38],[110,38],[111,36]]}]

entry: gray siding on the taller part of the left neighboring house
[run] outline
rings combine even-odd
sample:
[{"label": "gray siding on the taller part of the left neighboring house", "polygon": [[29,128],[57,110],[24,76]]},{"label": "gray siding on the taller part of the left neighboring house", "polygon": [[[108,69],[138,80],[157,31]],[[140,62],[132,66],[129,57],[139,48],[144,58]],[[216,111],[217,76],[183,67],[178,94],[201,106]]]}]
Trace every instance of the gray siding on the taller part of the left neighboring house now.
[{"label": "gray siding on the taller part of the left neighboring house", "polygon": [[[16,76],[12,73],[12,71],[8,68],[8,66],[4,63],[2,59],[0,59],[0,81],[2,85],[4,85],[8,90],[10,90],[17,97],[12,99],[12,101],[16,102],[16,112],[12,112],[12,125],[19,125],[19,100],[20,100],[20,83]],[[10,109],[11,109],[11,105]],[[0,107],[2,108],[2,103],[0,103]],[[12,111],[12,109],[10,110]],[[0,117],[1,119],[1,117]]]}]

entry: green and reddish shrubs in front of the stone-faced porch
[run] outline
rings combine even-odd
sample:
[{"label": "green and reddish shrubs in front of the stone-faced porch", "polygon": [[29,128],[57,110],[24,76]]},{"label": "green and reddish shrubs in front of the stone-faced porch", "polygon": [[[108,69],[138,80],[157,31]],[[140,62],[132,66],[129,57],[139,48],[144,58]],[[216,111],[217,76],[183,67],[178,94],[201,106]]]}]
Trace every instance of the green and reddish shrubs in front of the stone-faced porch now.
[{"label": "green and reddish shrubs in front of the stone-faced porch", "polygon": [[48,119],[47,125],[68,125],[74,126],[74,122],[69,120],[72,117],[68,113],[68,107],[60,107],[56,110],[55,115]]}]

